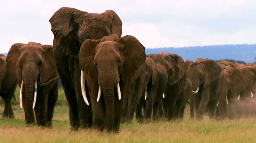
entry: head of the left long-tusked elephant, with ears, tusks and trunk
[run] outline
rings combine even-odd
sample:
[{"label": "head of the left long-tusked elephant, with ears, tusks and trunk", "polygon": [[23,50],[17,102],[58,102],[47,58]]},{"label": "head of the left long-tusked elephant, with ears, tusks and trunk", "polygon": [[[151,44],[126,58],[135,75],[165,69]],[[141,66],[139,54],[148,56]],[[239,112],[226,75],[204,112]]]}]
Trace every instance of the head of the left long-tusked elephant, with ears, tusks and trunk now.
[{"label": "head of the left long-tusked elephant, with ears, tusks and trunk", "polygon": [[48,85],[59,78],[52,50],[51,45],[30,42],[28,45],[16,43],[8,52],[7,63],[13,63],[12,69],[16,71],[20,107],[24,107],[27,123],[35,123],[32,108],[36,103],[37,86]]}]

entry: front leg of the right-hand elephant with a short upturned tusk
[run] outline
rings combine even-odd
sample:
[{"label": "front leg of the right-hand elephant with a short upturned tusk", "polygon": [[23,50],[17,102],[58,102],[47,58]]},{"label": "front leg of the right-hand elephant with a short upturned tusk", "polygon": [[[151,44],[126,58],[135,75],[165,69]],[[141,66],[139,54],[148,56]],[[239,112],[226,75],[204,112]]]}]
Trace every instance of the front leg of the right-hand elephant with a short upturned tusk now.
[{"label": "front leg of the right-hand elephant with a short upturned tusk", "polygon": [[198,108],[198,110],[196,112],[196,118],[198,120],[203,119],[203,114],[204,114],[204,111],[206,110],[206,106],[207,106],[207,104],[209,102],[209,98],[210,98],[210,86],[205,87],[202,90],[202,96],[201,96],[200,105],[199,105],[199,108]]}]

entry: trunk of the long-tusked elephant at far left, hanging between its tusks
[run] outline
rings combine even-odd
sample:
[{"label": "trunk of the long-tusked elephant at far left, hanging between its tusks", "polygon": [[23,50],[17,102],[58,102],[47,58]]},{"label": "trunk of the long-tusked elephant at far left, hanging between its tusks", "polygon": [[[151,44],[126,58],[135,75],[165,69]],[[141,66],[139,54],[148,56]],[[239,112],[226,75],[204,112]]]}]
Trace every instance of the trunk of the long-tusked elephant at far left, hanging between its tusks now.
[{"label": "trunk of the long-tusked elephant at far left, hanging between its tusks", "polygon": [[36,81],[35,72],[33,68],[27,67],[26,71],[23,72],[22,78],[24,81],[25,87],[25,101],[23,101],[24,111],[25,111],[25,120],[26,123],[31,124],[35,123],[34,113],[33,113],[33,93],[34,93],[34,83]]}]

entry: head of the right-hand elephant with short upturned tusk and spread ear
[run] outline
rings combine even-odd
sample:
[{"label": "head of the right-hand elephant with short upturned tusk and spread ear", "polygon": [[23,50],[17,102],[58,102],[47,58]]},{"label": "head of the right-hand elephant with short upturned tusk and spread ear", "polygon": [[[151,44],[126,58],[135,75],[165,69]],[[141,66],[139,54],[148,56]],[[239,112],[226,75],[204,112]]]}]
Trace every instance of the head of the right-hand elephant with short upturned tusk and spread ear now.
[{"label": "head of the right-hand elephant with short upturned tusk and spread ear", "polygon": [[189,64],[187,75],[192,82],[192,90],[198,92],[200,85],[209,86],[219,78],[221,71],[221,67],[214,60],[205,59]]}]

